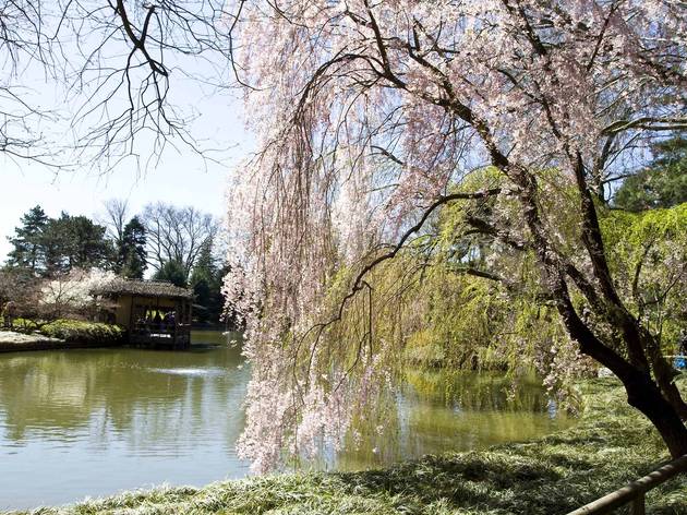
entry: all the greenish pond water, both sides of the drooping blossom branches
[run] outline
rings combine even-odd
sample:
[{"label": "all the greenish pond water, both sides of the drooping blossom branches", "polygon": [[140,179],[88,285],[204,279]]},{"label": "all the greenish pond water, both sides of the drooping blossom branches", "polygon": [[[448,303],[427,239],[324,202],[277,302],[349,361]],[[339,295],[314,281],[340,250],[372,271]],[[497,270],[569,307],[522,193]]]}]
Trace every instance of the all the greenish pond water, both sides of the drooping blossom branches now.
[{"label": "all the greenish pond water, both sides of the drooping blossom branches", "polygon": [[[0,354],[0,510],[64,504],[161,483],[249,474],[234,443],[249,370],[216,332],[190,351],[86,349]],[[360,469],[521,441],[571,423],[534,381],[409,374],[389,394],[386,432],[318,467]]]}]

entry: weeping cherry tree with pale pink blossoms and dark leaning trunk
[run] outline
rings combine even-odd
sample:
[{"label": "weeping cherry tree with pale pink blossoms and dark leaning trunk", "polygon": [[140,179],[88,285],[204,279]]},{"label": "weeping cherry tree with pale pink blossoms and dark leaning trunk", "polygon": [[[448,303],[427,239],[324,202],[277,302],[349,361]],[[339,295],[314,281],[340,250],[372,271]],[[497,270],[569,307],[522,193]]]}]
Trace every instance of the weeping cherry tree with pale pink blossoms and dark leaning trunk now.
[{"label": "weeping cherry tree with pale pink blossoms and dark leaning trunk", "polygon": [[[687,406],[600,229],[610,181],[687,128],[686,14],[667,0],[243,5],[236,59],[260,153],[229,199],[240,252],[225,289],[245,316],[241,451],[256,469],[336,445],[374,404],[394,355],[374,334],[375,270],[451,203],[457,237],[535,256],[578,351],[687,453]],[[460,188],[485,167],[492,183]]]}]

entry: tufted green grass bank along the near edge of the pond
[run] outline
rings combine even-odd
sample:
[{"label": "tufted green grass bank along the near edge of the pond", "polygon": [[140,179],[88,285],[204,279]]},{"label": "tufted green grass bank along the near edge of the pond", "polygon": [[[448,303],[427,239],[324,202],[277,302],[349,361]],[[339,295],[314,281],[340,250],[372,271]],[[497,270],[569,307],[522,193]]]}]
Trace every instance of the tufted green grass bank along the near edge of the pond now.
[{"label": "tufted green grass bank along the near edge of the pond", "polygon": [[[627,406],[617,382],[595,380],[581,388],[586,407],[579,423],[533,442],[426,456],[383,470],[126,492],[33,513],[565,514],[667,458],[655,431]],[[687,514],[687,476],[653,490],[647,501],[647,513]]]}]

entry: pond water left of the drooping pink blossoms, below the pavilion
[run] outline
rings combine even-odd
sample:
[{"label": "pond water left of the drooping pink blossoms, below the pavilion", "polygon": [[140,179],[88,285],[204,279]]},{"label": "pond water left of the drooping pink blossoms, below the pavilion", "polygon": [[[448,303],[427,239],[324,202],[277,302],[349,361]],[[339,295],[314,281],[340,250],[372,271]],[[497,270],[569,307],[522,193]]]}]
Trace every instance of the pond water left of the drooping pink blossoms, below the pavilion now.
[{"label": "pond water left of the drooping pink blossoms, below the pavilion", "polygon": [[249,371],[220,334],[192,351],[0,355],[0,510],[242,477]]}]

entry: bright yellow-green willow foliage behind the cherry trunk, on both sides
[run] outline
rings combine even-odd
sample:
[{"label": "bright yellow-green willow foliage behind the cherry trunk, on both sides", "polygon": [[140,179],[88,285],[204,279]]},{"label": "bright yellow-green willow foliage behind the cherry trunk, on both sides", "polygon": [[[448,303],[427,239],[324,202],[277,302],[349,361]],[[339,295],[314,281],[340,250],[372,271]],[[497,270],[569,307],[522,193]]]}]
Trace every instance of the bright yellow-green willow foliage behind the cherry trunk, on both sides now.
[{"label": "bright yellow-green willow foliage behind the cherry trunk, on both sides", "polygon": [[[484,185],[484,180],[473,178],[470,187]],[[601,215],[618,292],[656,335],[665,354],[677,354],[687,328],[687,204],[640,214],[604,209]],[[429,255],[415,250],[369,279],[394,299],[393,312],[379,312],[375,319],[377,337],[399,340],[413,366],[517,371],[531,363],[549,386],[565,394],[566,385],[593,368],[575,350],[555,310],[541,302],[545,292],[539,271],[531,265],[533,256],[519,256],[514,263],[480,240],[456,238],[465,216],[460,204],[445,207],[433,227],[438,236]],[[566,216],[574,219],[572,214],[562,218]],[[574,224],[558,227],[570,231]],[[465,273],[467,266],[484,268],[484,262],[509,279]],[[409,280],[413,267],[422,270],[421,276],[411,275]],[[397,292],[390,294],[384,285],[395,285]],[[385,332],[389,324],[395,331]]]}]

